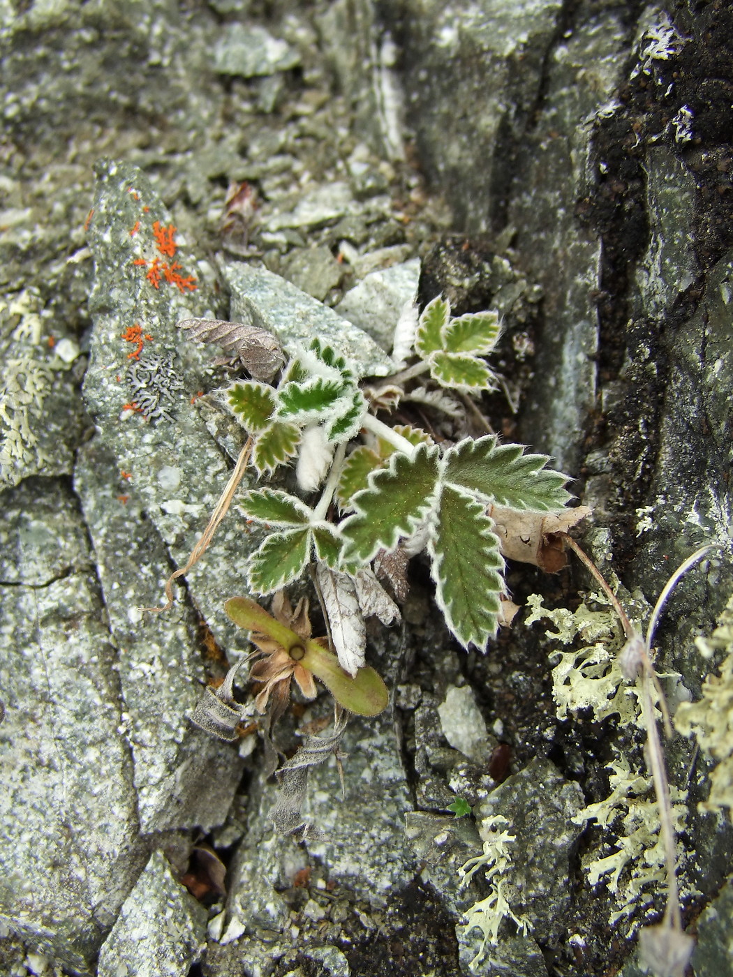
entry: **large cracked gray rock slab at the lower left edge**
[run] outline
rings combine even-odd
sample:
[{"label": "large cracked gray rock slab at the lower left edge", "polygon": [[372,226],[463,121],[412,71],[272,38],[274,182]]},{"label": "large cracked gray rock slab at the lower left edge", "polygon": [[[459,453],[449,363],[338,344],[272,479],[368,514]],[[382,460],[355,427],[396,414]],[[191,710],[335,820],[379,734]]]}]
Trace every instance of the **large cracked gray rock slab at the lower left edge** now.
[{"label": "large cracked gray rock slab at the lower left edge", "polygon": [[26,481],[2,508],[0,919],[88,972],[147,856],[119,650],[68,486]]}]

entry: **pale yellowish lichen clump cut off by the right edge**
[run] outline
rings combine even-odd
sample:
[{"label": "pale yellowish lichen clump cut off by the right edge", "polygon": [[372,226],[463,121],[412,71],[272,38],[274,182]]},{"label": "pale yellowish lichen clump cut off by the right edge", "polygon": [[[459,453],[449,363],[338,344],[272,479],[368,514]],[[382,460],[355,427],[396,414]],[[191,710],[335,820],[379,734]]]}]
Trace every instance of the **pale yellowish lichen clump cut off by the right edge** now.
[{"label": "pale yellowish lichen clump cut off by the right edge", "polygon": [[683,736],[694,733],[703,749],[718,761],[711,773],[710,796],[700,808],[715,813],[727,808],[733,821],[733,594],[710,638],[697,638],[696,644],[706,658],[720,650],[727,654],[720,663],[720,674],[706,678],[702,699],[680,703],[674,726]]}]

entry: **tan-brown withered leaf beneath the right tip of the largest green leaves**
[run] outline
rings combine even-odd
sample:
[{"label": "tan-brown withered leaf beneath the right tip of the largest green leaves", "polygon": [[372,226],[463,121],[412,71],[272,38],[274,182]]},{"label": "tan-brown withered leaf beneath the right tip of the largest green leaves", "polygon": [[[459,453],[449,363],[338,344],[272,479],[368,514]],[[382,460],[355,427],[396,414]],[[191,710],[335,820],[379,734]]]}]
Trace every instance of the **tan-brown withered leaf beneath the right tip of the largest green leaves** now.
[{"label": "tan-brown withered leaf beneath the right tip of the largest green leaves", "polygon": [[563,512],[517,512],[494,505],[489,515],[496,523],[501,555],[507,560],[531,563],[545,573],[557,573],[568,562],[562,533],[590,515],[586,505]]}]

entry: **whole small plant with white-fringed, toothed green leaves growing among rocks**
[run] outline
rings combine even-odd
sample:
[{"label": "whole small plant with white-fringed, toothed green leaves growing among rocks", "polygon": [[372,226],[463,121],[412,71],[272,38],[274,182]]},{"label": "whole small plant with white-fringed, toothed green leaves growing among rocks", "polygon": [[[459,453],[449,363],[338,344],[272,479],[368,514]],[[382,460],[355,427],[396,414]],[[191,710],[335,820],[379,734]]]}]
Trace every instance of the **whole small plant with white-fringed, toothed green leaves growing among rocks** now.
[{"label": "whole small plant with white-fringed, toothed green leaves growing among rocks", "polygon": [[496,312],[453,319],[448,301],[435,298],[419,319],[413,314],[411,344],[406,320],[410,312],[400,343],[417,362],[369,391],[370,399],[354,367],[319,339],[295,352],[277,386],[249,380],[228,391],[258,474],[266,479],[297,459],[303,492],[321,489],[312,504],[277,488],[244,493],[241,509],[266,530],[247,565],[251,592],[275,593],[315,568],[335,651],[351,675],[365,665],[364,616],[385,623],[399,616],[375,560],[391,579],[396,572],[385,570],[393,566],[385,558],[426,550],[448,627],[463,648],[486,652],[506,590],[497,522],[516,532],[517,514],[560,512],[571,498],[567,477],[547,468],[546,455],[501,445],[495,435],[442,450],[420,428],[375,415],[409,400],[406,385],[421,374],[418,398],[438,409],[451,392],[496,389],[484,359],[499,336]]}]

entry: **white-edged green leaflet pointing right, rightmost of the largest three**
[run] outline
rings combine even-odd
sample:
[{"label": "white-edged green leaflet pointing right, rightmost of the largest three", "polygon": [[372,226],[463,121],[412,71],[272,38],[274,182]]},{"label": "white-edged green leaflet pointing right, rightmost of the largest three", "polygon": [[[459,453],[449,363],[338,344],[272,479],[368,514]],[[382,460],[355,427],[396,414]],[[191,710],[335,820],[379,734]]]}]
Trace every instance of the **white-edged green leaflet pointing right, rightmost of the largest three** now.
[{"label": "white-edged green leaflet pointing right, rightmost of the largest three", "polygon": [[521,445],[499,445],[496,435],[466,438],[443,458],[443,480],[509,509],[549,512],[572,498],[567,475],[549,471],[546,454],[525,454]]}]

